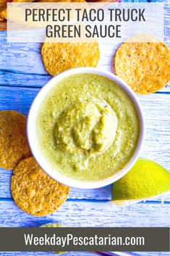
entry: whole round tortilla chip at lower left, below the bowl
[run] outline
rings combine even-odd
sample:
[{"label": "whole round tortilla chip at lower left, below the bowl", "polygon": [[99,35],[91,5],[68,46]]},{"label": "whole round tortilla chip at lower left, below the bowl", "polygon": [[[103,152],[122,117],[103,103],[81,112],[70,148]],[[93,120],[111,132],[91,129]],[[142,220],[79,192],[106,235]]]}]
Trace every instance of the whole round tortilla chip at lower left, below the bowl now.
[{"label": "whole round tortilla chip at lower left, below the bowl", "polygon": [[20,209],[30,215],[43,216],[59,209],[67,199],[69,187],[54,181],[29,157],[14,169],[11,192]]}]

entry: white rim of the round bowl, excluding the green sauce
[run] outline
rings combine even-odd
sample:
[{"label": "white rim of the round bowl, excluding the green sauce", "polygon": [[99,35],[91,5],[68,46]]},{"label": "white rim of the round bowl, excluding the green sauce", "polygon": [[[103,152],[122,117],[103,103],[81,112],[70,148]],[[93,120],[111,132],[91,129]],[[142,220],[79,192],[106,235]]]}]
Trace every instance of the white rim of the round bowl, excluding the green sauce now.
[{"label": "white rim of the round bowl, excluding the green sauce", "polygon": [[[38,113],[39,107],[41,106],[41,103],[43,102],[43,99],[48,94],[48,91],[50,91],[51,88],[56,86],[56,83],[59,82],[59,80],[62,80],[63,78],[66,78],[69,75],[75,75],[78,73],[94,73],[98,75],[103,75],[104,77],[109,78],[110,80],[113,80],[114,82],[116,82],[116,84],[120,88],[122,88],[122,90],[132,100],[140,118],[140,138],[137,144],[137,149],[135,150],[135,154],[132,156],[132,158],[129,160],[127,165],[125,165],[122,170],[119,170],[113,176],[101,181],[80,181],[80,180],[75,180],[72,178],[68,178],[67,176],[64,176],[63,174],[59,173],[57,170],[53,170],[51,168],[50,162],[46,160],[46,157],[43,156],[41,150],[38,148],[38,138],[36,136],[35,123],[36,123],[36,115]],[[132,166],[137,161],[137,158],[139,157],[140,149],[144,141],[144,131],[145,131],[145,127],[144,127],[143,110],[141,108],[139,100],[137,99],[137,96],[132,91],[132,89],[129,86],[127,86],[127,83],[125,83],[124,80],[122,80],[118,76],[106,71],[98,70],[93,67],[78,67],[72,70],[67,70],[67,71],[64,71],[63,73],[60,73],[59,75],[56,75],[54,78],[49,80],[48,83],[46,83],[46,86],[43,86],[43,88],[41,88],[41,91],[39,91],[39,93],[35,97],[27,117],[27,138],[30,144],[31,152],[35,157],[35,160],[38,162],[41,168],[43,168],[43,170],[45,170],[45,172],[49,176],[51,176],[51,178],[54,178],[54,180],[59,181],[60,183],[63,183],[67,186],[74,186],[80,189],[99,188],[102,186],[109,185],[110,183],[117,181],[119,178],[122,178],[122,176],[124,176],[124,174],[126,174],[128,170],[132,168]]]}]

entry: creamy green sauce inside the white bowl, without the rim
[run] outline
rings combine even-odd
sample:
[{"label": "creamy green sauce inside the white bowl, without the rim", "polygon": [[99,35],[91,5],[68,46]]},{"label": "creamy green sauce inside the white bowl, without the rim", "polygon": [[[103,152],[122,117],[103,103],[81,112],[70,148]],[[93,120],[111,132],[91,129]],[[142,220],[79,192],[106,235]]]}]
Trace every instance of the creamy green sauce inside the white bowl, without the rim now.
[{"label": "creamy green sauce inside the white bowl, without the rim", "polygon": [[52,168],[81,181],[109,178],[137,147],[137,110],[113,81],[101,75],[70,75],[56,83],[37,116],[41,152]]}]

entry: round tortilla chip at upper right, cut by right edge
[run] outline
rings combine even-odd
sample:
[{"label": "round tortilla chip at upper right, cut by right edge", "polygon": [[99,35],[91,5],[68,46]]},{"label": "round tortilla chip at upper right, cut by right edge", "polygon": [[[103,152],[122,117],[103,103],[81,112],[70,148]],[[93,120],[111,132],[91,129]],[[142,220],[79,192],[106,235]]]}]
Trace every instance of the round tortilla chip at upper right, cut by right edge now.
[{"label": "round tortilla chip at upper right, cut by right edge", "polygon": [[156,41],[126,41],[116,51],[116,75],[137,94],[150,94],[166,86],[170,80],[170,51]]}]

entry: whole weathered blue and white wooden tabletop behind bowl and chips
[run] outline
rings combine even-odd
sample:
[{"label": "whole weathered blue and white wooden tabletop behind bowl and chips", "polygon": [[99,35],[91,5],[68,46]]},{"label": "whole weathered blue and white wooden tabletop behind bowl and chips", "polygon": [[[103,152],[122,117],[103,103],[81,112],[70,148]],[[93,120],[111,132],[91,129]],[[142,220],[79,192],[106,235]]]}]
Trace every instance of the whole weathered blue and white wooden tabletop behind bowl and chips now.
[{"label": "whole weathered blue and white wooden tabletop behind bowl and chips", "polygon": [[[170,15],[166,10],[165,37],[169,39]],[[118,45],[101,45],[98,68],[111,70],[111,59]],[[0,32],[0,110],[16,110],[24,115],[35,95],[51,78],[41,61],[41,44],[8,44],[6,31]],[[145,111],[146,135],[141,156],[170,170],[170,86],[155,94],[138,96]],[[0,226],[34,227],[57,222],[65,226],[167,227],[170,226],[170,195],[124,208],[113,208],[111,186],[101,189],[72,188],[67,202],[54,214],[34,217],[22,212],[10,194],[11,170],[0,169]],[[169,252],[138,252],[138,255],[170,255]],[[10,255],[56,255],[52,252],[0,252]],[[67,255],[92,256],[90,252]]]}]

